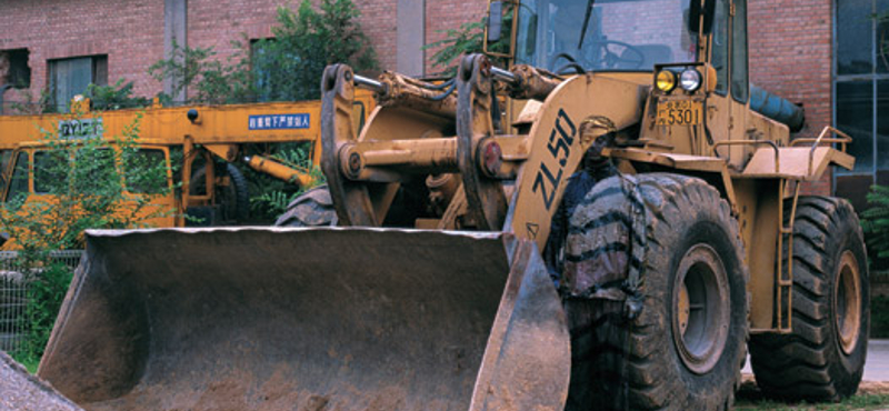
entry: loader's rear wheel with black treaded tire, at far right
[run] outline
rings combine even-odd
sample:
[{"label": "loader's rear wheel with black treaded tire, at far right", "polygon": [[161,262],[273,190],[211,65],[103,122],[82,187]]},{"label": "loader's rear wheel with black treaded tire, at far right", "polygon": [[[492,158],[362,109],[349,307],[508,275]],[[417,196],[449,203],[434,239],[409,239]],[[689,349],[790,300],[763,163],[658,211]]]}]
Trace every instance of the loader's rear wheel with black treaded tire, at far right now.
[{"label": "loader's rear wheel with black treaded tire, at far right", "polygon": [[783,400],[850,397],[865,371],[870,290],[863,234],[848,201],[799,199],[792,264],[792,333],[750,339],[757,384]]}]

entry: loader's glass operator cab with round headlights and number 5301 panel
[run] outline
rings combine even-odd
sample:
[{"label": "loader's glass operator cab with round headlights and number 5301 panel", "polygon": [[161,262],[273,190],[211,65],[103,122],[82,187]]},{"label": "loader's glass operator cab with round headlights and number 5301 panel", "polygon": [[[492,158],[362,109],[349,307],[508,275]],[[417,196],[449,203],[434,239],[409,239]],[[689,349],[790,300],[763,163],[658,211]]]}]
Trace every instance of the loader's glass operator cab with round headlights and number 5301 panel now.
[{"label": "loader's glass operator cab with round headlights and number 5301 panel", "polygon": [[[715,139],[746,138],[750,127],[735,124],[758,121],[748,113],[746,0],[490,4],[488,56],[556,74],[596,72],[651,84],[645,110],[656,116],[643,119],[639,139],[661,146],[669,140],[665,150],[710,156]],[[740,168],[752,149],[731,146],[717,156]]]}]

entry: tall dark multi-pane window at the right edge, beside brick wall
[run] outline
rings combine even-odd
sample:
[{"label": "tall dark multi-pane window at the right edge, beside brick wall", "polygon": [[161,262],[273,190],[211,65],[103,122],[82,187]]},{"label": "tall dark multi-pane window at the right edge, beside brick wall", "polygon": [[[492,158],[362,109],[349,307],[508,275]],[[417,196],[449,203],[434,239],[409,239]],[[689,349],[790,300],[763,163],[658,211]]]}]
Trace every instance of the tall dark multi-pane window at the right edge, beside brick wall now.
[{"label": "tall dark multi-pane window at the right edge, beside brick wall", "polygon": [[889,184],[889,3],[837,0],[833,122],[853,143],[855,170],[837,169],[835,191],[858,210],[870,187]]}]

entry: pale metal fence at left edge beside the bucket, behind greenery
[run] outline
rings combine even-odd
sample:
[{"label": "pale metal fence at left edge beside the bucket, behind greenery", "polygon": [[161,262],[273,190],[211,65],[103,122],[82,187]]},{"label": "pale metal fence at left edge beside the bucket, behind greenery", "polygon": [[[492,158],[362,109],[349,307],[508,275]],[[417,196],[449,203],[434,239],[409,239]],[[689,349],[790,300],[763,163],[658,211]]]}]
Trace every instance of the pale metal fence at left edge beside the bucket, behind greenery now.
[{"label": "pale metal fence at left edge beside the bucket, behind greenery", "polygon": [[[50,258],[71,270],[83,255],[81,250],[54,251]],[[16,251],[0,251],[0,350],[13,353],[22,349],[27,337],[28,278],[16,270]]]}]

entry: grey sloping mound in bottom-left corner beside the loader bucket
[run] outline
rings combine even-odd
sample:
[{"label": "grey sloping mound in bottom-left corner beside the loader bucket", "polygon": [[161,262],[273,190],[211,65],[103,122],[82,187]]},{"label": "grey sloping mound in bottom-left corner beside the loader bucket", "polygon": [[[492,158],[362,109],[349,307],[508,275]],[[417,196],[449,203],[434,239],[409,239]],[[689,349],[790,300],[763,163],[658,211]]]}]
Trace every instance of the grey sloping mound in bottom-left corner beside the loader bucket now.
[{"label": "grey sloping mound in bottom-left corner beside the loader bucket", "polygon": [[0,410],[82,411],[0,351]]}]

